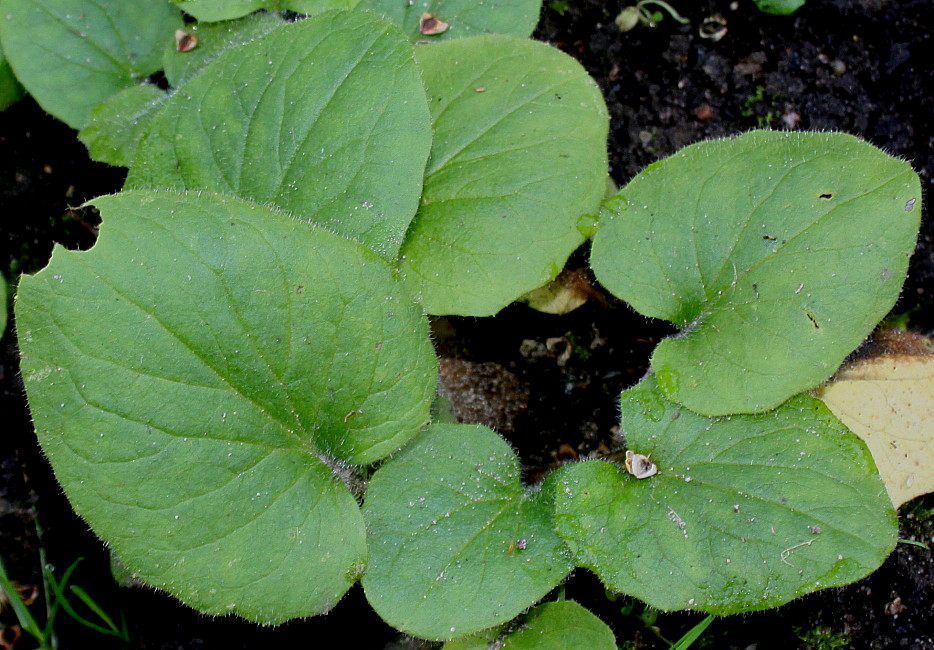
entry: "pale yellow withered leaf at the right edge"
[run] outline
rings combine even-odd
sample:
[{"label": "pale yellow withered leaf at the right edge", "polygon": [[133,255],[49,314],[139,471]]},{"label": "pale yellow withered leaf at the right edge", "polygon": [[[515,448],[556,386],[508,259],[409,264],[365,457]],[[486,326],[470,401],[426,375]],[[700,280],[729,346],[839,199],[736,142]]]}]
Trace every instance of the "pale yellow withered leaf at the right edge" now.
[{"label": "pale yellow withered leaf at the right edge", "polygon": [[869,446],[896,508],[934,492],[934,356],[884,354],[843,368],[817,396]]}]

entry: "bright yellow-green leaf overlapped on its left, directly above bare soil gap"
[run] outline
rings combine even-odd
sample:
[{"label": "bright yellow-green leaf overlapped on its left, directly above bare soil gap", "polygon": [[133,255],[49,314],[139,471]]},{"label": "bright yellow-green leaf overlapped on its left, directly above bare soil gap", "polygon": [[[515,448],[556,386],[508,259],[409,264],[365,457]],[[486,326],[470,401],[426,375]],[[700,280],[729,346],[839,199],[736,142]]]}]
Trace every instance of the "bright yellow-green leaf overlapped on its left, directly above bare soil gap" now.
[{"label": "bright yellow-green leaf overlapped on its left, directly above bare soil gap", "polygon": [[400,268],[431,314],[494,314],[584,240],[606,188],[606,106],[544,43],[478,36],[417,55],[435,137]]}]

